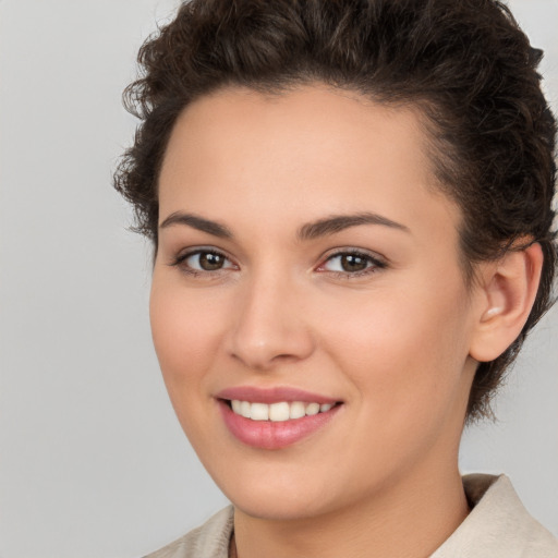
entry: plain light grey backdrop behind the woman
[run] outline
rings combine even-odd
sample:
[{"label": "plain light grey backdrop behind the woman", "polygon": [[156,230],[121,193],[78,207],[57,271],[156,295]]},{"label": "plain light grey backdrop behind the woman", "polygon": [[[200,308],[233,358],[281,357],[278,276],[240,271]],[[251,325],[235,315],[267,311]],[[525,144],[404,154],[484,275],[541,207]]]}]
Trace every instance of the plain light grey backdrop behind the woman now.
[{"label": "plain light grey backdrop behind the woman", "polygon": [[[226,504],[151,348],[149,250],[111,172],[143,39],[177,0],[0,0],[0,557],[131,558]],[[558,99],[558,0],[511,2]],[[465,433],[558,535],[558,312]]]}]

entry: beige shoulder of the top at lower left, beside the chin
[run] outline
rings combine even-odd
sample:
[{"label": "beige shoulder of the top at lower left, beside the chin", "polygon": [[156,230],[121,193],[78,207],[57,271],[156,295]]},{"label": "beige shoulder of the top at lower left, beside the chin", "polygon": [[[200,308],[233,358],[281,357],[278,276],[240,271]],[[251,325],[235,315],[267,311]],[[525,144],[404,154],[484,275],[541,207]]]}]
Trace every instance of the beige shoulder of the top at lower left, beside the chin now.
[{"label": "beige shoulder of the top at lower left, beside the chin", "polygon": [[144,558],[227,558],[233,526],[229,506],[173,543]]}]

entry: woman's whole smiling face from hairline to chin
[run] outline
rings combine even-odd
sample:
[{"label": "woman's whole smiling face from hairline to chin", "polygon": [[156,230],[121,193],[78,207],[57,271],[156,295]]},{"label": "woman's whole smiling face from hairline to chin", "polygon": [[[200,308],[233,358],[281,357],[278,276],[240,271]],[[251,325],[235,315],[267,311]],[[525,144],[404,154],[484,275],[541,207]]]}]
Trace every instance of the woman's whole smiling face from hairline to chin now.
[{"label": "woman's whole smiling face from hairline to chin", "polygon": [[474,319],[422,130],[318,84],[223,89],[175,124],[153,336],[184,432],[247,513],[317,515],[457,470]]}]

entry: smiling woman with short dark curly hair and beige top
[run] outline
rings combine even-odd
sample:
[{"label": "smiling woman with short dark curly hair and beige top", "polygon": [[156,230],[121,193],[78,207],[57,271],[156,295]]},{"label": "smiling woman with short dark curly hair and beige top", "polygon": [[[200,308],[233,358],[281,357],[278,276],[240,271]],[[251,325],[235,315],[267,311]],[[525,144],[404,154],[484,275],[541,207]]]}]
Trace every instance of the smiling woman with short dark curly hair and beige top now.
[{"label": "smiling woman with short dark curly hair and beige top", "polygon": [[179,421],[233,507],[153,557],[558,556],[465,421],[549,304],[556,124],[488,0],[194,0],[117,172]]}]

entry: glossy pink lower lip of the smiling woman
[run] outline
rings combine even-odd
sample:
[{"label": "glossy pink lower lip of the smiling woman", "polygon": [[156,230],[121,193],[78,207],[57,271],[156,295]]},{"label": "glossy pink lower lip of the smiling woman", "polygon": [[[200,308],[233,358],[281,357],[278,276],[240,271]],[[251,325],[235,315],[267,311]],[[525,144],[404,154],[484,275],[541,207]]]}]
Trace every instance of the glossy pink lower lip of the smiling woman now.
[{"label": "glossy pink lower lip of the smiling woman", "polygon": [[260,449],[281,449],[311,436],[333,418],[341,405],[325,413],[303,416],[292,421],[252,421],[236,413],[222,400],[219,401],[225,424],[231,434],[247,446]]}]

